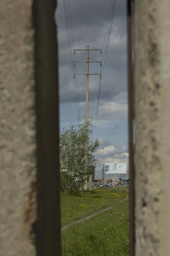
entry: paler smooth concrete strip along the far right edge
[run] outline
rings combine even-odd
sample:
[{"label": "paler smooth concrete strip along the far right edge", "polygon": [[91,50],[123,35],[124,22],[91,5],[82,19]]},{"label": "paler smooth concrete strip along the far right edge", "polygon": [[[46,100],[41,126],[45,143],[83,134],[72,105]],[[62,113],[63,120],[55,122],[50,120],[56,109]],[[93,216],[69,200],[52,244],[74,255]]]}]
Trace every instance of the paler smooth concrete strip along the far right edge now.
[{"label": "paler smooth concrete strip along the far right edge", "polygon": [[159,5],[159,31],[161,51],[161,109],[160,148],[162,165],[161,186],[163,190],[161,206],[161,255],[170,255],[170,0]]}]

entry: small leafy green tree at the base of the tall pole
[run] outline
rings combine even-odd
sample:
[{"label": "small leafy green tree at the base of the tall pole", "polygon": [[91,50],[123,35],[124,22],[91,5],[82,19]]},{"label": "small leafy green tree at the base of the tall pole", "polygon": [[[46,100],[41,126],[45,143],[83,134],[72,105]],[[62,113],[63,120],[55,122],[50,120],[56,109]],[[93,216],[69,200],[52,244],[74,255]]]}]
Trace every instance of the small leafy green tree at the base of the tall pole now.
[{"label": "small leafy green tree at the base of the tall pole", "polygon": [[[60,134],[60,175],[62,192],[77,194],[85,184],[91,165],[96,163],[94,153],[99,140],[90,141],[91,131],[71,125]],[[88,143],[88,147],[87,147]]]}]

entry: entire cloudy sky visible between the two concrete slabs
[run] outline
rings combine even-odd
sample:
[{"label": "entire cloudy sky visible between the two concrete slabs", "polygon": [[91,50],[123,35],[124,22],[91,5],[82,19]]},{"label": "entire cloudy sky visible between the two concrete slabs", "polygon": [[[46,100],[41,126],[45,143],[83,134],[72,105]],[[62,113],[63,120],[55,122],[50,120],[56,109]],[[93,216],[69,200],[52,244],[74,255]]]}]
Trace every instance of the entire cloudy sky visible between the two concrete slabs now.
[{"label": "entire cloudy sky visible between the two concrete slabs", "polygon": [[[67,1],[67,0],[66,0]],[[102,49],[108,20],[110,0],[69,0],[74,49]],[[55,14],[59,43],[59,99],[60,130],[78,125],[77,97],[68,46],[63,0],[58,0]],[[71,32],[71,30],[70,30]],[[127,163],[127,31],[126,0],[117,0],[105,68],[101,80],[99,111],[95,126],[99,76],[89,76],[89,118],[93,120],[92,140],[99,139],[96,152],[96,177],[101,177],[100,166],[105,163]],[[103,48],[103,53],[105,46]],[[86,52],[76,53],[76,60],[85,58]],[[89,58],[100,60],[99,51],[89,51]],[[77,73],[86,69],[85,63],[77,64]],[[89,64],[89,70],[99,73],[99,64]],[[85,73],[85,72],[83,72]],[[78,76],[79,117],[85,116],[85,76]],[[128,175],[127,175],[128,176]]]}]

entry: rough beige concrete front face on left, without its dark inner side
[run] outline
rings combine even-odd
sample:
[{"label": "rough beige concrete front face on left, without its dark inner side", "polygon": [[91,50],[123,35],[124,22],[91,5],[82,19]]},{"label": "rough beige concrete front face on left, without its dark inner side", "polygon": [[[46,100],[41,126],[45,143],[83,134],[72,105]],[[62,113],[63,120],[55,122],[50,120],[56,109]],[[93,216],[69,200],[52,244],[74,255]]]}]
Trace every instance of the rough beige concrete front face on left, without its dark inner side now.
[{"label": "rough beige concrete front face on left, without its dark inner side", "polygon": [[34,256],[32,0],[0,2],[0,255]]}]

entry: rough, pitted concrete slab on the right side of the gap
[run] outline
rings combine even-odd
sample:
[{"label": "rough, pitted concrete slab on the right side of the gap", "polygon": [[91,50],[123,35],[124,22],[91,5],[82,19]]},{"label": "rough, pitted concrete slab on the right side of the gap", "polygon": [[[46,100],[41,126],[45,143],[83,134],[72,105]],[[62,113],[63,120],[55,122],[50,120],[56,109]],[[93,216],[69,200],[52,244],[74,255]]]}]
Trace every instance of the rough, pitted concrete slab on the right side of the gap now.
[{"label": "rough, pitted concrete slab on the right side of the gap", "polygon": [[170,252],[170,0],[135,1],[136,256]]}]

